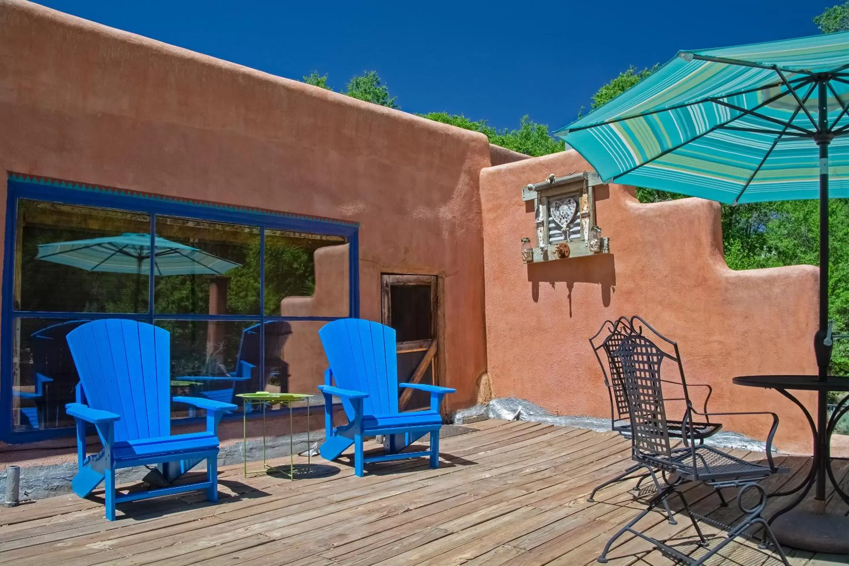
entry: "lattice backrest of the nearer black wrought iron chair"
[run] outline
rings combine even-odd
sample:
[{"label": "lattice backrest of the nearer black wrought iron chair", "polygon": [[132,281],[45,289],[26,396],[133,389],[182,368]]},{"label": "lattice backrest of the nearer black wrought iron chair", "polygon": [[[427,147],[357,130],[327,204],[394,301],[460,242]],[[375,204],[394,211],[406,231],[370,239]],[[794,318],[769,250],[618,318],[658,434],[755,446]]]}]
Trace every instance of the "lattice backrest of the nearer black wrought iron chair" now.
[{"label": "lattice backrest of the nearer black wrought iron chair", "polygon": [[635,456],[672,457],[661,384],[666,354],[651,340],[633,334],[622,339],[616,355],[622,364]]}]

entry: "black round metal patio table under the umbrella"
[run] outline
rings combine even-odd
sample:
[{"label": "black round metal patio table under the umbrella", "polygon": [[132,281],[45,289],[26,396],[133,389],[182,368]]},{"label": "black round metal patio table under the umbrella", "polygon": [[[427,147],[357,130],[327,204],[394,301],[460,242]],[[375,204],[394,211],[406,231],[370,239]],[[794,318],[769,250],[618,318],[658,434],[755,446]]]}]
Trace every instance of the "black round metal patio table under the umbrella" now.
[{"label": "black round metal patio table under the umbrella", "polygon": [[[786,507],[779,509],[769,519],[779,542],[787,546],[795,546],[812,552],[849,553],[849,518],[842,515],[825,513],[825,482],[829,480],[844,502],[849,504],[849,494],[841,489],[840,482],[835,479],[831,468],[830,440],[835,425],[840,418],[849,412],[849,395],[845,395],[835,406],[831,417],[827,411],[827,396],[829,391],[849,392],[849,378],[828,376],[820,380],[816,375],[745,375],[734,378],[734,384],[745,387],[761,387],[775,389],[790,401],[796,403],[805,414],[807,423],[813,435],[813,461],[807,477],[791,490],[777,491],[770,496],[790,496],[801,491],[799,496]],[[816,391],[817,421],[814,422],[807,408],[788,391]],[[814,491],[814,511],[795,509],[805,499],[811,487]],[[781,520],[776,520],[778,518]]]}]

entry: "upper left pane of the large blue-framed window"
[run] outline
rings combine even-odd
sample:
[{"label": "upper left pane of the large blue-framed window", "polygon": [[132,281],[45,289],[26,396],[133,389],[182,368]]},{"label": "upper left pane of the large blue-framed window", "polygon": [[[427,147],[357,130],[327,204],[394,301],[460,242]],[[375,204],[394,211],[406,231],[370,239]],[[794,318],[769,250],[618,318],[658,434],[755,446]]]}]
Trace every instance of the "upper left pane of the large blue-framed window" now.
[{"label": "upper left pane of the large blue-framed window", "polygon": [[29,199],[18,201],[17,212],[16,308],[148,311],[145,249],[122,240],[149,234],[148,215]]}]

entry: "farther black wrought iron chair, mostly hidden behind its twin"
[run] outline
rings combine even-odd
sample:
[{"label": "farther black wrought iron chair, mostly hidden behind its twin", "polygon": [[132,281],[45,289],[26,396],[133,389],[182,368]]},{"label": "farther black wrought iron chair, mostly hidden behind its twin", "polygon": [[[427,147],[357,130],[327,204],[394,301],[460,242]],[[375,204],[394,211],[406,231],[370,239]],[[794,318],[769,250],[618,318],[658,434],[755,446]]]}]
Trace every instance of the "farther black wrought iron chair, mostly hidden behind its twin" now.
[{"label": "farther black wrought iron chair, mostly hidden behind its twin", "polygon": [[[589,339],[589,343],[593,347],[593,353],[595,354],[596,360],[599,361],[601,373],[604,375],[604,385],[607,387],[607,393],[610,396],[610,429],[626,437],[631,436],[631,418],[628,412],[625,387],[622,382],[621,361],[616,355],[616,350],[619,348],[619,345],[621,345],[622,339],[632,335],[642,336],[646,329],[655,336],[655,339],[658,339],[658,341],[661,341],[664,344],[664,356],[675,361],[678,367],[678,381],[672,379],[661,379],[661,383],[672,384],[676,387],[680,387],[683,391],[683,396],[667,397],[666,401],[683,401],[685,404],[684,406],[686,407],[690,402],[689,387],[703,388],[705,389],[705,401],[702,404],[703,414],[707,414],[707,402],[710,401],[711,394],[713,393],[713,389],[708,384],[687,384],[687,378],[684,376],[684,368],[681,363],[681,355],[678,352],[678,344],[657,332],[655,328],[652,328],[652,326],[648,322],[645,322],[642,317],[635,315],[631,318],[619,317],[616,321],[612,322],[604,321],[601,328],[599,328],[599,332],[595,333],[593,338]],[[604,338],[598,341],[602,336],[604,336]],[[602,350],[604,351],[604,361],[602,360],[602,356],[599,355],[599,351]],[[606,369],[605,365],[607,366]],[[670,438],[683,439],[686,445],[686,442],[689,441],[689,436],[683,434],[683,418],[681,420],[667,421],[666,424]],[[705,421],[702,423],[693,423],[693,440],[702,444],[706,438],[713,434],[717,434],[717,432],[721,429],[721,423],[711,423],[710,417],[706,417]],[[593,490],[593,493],[590,494],[588,501],[593,502],[595,494],[599,490],[604,489],[604,487],[616,484],[617,482],[625,479],[640,477],[640,482],[642,482],[643,479],[648,477],[648,474],[632,476],[632,474],[638,472],[642,468],[644,468],[642,464],[634,464],[615,478],[597,485]],[[675,524],[675,519],[672,518],[672,513],[669,513],[669,522]]]}]

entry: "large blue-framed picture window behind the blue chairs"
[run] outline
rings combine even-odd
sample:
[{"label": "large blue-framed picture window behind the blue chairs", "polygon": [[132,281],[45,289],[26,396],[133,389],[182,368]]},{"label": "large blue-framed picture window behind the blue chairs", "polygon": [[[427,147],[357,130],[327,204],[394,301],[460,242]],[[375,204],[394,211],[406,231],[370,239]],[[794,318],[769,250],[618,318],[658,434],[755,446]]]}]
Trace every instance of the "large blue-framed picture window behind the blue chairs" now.
[{"label": "large blue-framed picture window behind the blue chairs", "polygon": [[[5,440],[73,426],[65,404],[78,378],[65,336],[87,321],[165,328],[172,395],[233,402],[258,390],[313,392],[326,367],[316,331],[357,315],[355,225],[12,179],[8,186]],[[173,419],[194,416],[172,407]]]}]

